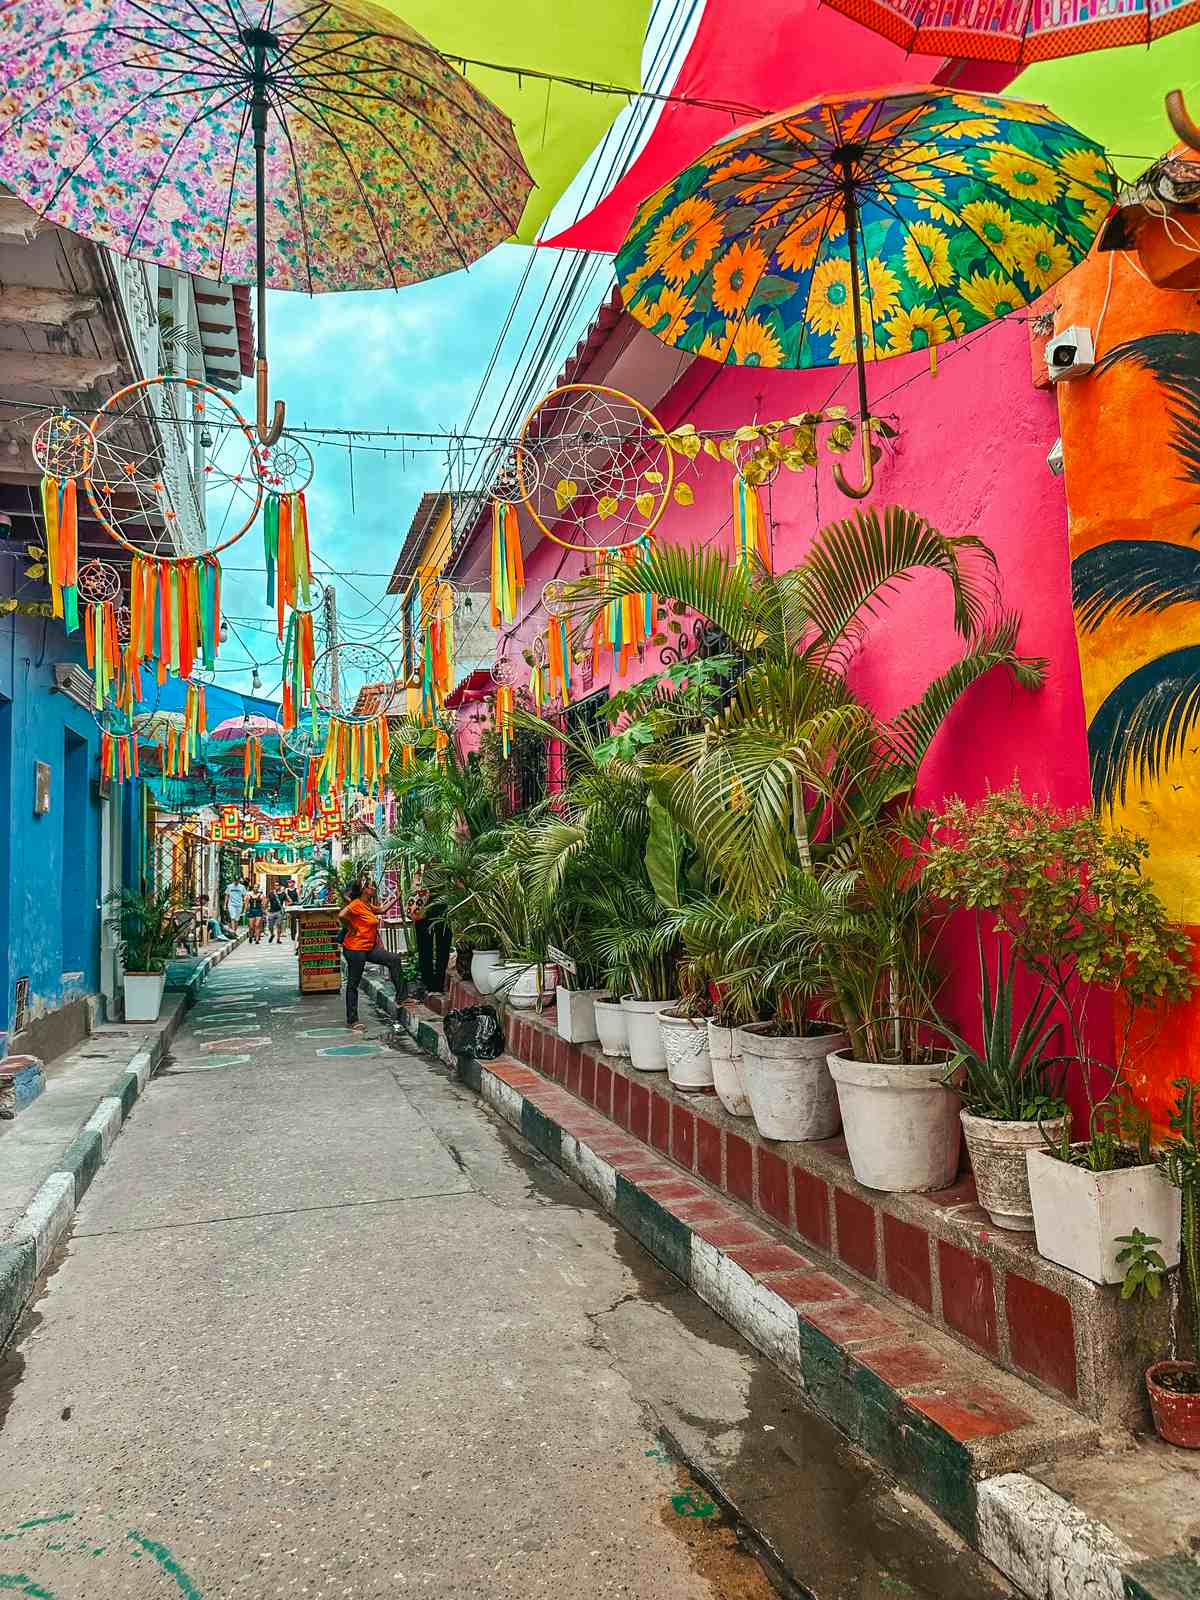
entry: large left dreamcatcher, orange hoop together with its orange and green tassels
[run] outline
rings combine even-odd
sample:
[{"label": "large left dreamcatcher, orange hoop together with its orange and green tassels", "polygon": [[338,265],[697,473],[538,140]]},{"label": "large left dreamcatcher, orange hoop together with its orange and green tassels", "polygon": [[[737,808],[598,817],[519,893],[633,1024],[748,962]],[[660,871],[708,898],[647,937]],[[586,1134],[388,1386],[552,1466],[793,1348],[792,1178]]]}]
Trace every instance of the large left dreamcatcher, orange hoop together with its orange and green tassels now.
[{"label": "large left dreamcatcher, orange hoop together with its orange and green tassels", "polygon": [[[218,555],[246,533],[262,502],[250,426],[219,390],[162,376],[118,389],[91,432],[88,501],[133,555],[133,659],[157,658],[158,682],[168,672],[190,677],[197,656],[211,669],[221,629]],[[195,474],[189,461],[200,462]]]}]

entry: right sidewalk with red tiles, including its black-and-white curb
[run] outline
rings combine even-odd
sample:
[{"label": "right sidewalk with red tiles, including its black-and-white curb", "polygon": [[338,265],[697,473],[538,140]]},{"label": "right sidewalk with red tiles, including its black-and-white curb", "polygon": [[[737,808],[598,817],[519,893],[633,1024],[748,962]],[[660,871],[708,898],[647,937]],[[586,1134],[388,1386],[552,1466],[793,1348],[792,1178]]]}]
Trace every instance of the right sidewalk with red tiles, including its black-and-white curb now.
[{"label": "right sidewalk with red tiles, including its black-and-white curb", "polygon": [[[392,1010],[382,982],[371,978],[368,989]],[[800,1254],[795,1235],[706,1179],[694,1096],[656,1083],[654,1099],[678,1101],[683,1120],[677,1128],[672,1109],[662,1128],[653,1117],[640,1126],[619,1110],[616,1086],[646,1098],[645,1080],[630,1083],[592,1046],[582,1048],[581,1083],[563,1070],[565,1051],[549,1070],[512,1054],[454,1062],[435,1011],[410,1003],[402,1021],[1021,1594],[1200,1600],[1200,1462],[1190,1453],[1101,1434],[914,1318],[882,1283],[850,1275],[811,1242]],[[507,1013],[504,1026],[522,1043],[531,1027],[554,1034],[530,1013]]]}]

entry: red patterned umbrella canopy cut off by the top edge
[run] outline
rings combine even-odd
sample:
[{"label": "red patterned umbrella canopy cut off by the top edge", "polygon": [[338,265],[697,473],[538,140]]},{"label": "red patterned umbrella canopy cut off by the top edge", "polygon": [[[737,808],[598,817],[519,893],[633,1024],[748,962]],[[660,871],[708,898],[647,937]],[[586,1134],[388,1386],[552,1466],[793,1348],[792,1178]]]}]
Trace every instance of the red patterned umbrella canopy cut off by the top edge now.
[{"label": "red patterned umbrella canopy cut off by the top edge", "polygon": [[1149,45],[1200,22],[1200,0],[826,0],[901,50],[1029,66],[1115,45]]}]

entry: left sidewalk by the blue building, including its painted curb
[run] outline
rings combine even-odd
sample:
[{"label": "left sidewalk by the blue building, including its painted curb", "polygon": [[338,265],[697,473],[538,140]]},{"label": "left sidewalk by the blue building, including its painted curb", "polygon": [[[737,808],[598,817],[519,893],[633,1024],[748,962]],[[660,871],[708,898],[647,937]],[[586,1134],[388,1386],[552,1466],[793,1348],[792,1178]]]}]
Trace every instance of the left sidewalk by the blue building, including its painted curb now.
[{"label": "left sidewalk by the blue building, including its painted curb", "polygon": [[46,1066],[32,1106],[0,1122],[0,1344],[208,973],[240,942],[171,962],[157,1022],[99,1024]]}]

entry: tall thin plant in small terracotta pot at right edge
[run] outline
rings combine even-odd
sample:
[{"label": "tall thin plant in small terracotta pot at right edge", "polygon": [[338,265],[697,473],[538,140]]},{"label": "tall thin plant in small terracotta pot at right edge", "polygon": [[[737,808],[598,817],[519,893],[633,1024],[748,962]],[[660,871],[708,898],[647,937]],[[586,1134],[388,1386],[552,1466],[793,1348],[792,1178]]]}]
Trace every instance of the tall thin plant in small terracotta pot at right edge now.
[{"label": "tall thin plant in small terracotta pot at right edge", "polygon": [[[1146,1373],[1154,1426],[1168,1445],[1200,1450],[1200,1107],[1197,1085],[1176,1078],[1179,1091],[1163,1147],[1163,1174],[1179,1194],[1179,1232],[1184,1277],[1186,1349],[1190,1358],[1162,1360]],[[1162,1235],[1170,1238],[1171,1235]],[[1163,1262],[1170,1264],[1170,1258]]]}]

